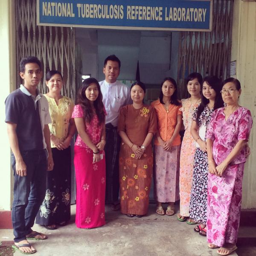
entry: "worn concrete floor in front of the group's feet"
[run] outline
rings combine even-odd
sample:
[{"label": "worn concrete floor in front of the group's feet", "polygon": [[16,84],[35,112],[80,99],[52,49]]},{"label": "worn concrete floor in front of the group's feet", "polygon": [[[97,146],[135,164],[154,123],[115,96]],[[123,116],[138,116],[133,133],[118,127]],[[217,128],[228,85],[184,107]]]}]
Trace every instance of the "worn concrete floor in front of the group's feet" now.
[{"label": "worn concrete floor in front of the group's feet", "polygon": [[[150,204],[148,215],[128,218],[119,211],[106,207],[103,227],[91,230],[78,229],[74,223],[75,205],[71,207],[72,218],[65,227],[46,230],[37,224],[33,229],[47,234],[45,241],[31,241],[36,256],[214,256],[215,250],[207,247],[205,237],[193,231],[194,225],[177,221],[174,216],[155,214]],[[244,230],[246,233],[246,231]],[[256,234],[255,229],[254,232]],[[0,230],[0,240],[12,240],[12,230]],[[15,256],[20,256],[15,252]],[[236,256],[234,252],[231,254]],[[253,256],[256,254],[244,254]],[[239,254],[240,256],[240,254]]]}]

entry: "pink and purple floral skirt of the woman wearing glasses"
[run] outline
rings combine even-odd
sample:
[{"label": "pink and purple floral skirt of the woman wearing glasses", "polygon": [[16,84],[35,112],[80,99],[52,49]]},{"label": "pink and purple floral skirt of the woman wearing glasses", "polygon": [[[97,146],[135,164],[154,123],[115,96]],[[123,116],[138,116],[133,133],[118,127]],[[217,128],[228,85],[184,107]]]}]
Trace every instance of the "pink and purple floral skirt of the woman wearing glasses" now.
[{"label": "pink and purple floral skirt of the woman wearing glasses", "polygon": [[244,163],[229,165],[222,177],[208,175],[207,241],[235,244],[241,213]]}]

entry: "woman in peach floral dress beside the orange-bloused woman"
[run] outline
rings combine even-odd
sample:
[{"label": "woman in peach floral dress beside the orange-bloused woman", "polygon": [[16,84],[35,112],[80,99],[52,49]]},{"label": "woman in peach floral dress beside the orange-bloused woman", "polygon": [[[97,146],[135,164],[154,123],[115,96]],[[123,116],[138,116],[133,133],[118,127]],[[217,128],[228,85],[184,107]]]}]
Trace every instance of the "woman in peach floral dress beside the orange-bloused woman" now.
[{"label": "woman in peach floral dress beside the orange-bloused woman", "polygon": [[[180,149],[180,213],[177,219],[186,221],[189,218],[189,201],[192,187],[193,163],[195,155],[195,140],[190,134],[192,124],[192,114],[196,107],[201,103],[200,88],[202,76],[199,73],[191,73],[186,81],[187,89],[190,94],[188,99],[182,99],[180,110],[183,115],[185,133]],[[196,224],[191,218],[188,224]]]}]

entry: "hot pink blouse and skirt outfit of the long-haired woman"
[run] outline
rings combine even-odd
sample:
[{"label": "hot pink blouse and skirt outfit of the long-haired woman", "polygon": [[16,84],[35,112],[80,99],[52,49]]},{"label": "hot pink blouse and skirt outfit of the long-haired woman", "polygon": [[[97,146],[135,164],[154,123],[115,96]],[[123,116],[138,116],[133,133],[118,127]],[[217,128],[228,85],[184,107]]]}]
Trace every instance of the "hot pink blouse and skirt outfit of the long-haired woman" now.
[{"label": "hot pink blouse and skirt outfit of the long-haired woman", "polygon": [[[80,105],[76,105],[73,118],[84,118]],[[103,124],[105,125],[105,124]],[[101,140],[102,124],[95,115],[90,124],[85,123],[85,130],[92,143]],[[76,169],[76,226],[93,228],[105,225],[105,152],[103,159],[93,163],[93,151],[83,142],[80,135],[75,143],[74,164]]]}]

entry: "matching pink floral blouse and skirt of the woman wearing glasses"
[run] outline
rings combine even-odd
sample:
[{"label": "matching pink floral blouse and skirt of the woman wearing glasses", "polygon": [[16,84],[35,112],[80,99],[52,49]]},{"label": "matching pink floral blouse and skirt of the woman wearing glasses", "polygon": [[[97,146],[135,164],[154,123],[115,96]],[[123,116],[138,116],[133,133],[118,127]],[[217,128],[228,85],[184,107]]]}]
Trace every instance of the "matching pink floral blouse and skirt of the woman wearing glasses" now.
[{"label": "matching pink floral blouse and skirt of the woman wearing glasses", "polygon": [[[252,117],[247,108],[239,107],[227,119],[224,108],[215,110],[207,130],[213,141],[216,165],[222,163],[239,140],[249,140]],[[240,221],[245,148],[229,164],[222,177],[208,175],[207,240],[219,247],[235,244]]]}]

